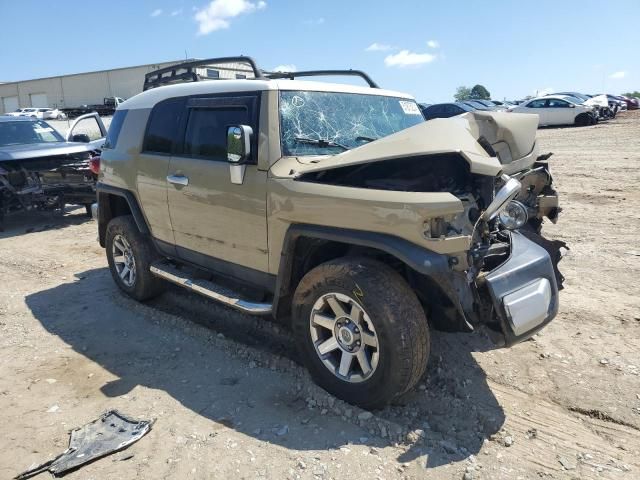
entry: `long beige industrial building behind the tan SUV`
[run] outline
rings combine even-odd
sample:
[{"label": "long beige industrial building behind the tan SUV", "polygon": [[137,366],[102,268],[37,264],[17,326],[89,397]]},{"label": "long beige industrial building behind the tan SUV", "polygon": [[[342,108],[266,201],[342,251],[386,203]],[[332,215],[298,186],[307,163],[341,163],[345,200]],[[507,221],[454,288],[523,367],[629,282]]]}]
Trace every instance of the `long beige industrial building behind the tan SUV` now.
[{"label": "long beige industrial building behind the tan SUV", "polygon": [[[130,98],[140,92],[144,75],[185,60],[57,77],[0,83],[0,114],[25,107],[73,108],[101,104],[105,97]],[[244,78],[241,68],[207,69],[209,78]],[[199,72],[200,73],[200,72]],[[204,73],[204,72],[203,72]]]}]

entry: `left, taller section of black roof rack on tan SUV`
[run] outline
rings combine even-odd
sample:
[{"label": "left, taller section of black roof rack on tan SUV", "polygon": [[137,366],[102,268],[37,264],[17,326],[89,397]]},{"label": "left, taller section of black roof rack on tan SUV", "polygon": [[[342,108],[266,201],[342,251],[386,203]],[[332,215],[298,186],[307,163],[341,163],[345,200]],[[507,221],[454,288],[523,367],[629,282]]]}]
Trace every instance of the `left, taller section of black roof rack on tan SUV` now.
[{"label": "left, taller section of black roof rack on tan SUV", "polygon": [[[154,70],[153,72],[149,72],[144,76],[144,90],[149,90],[150,88],[160,87],[162,85],[171,85],[174,83],[182,83],[182,82],[198,82],[203,79],[201,75],[198,75],[196,68],[198,67],[210,67],[220,63],[245,63],[251,70],[253,71],[253,75],[255,78],[266,78],[262,74],[262,70],[258,68],[256,62],[251,57],[245,57],[243,55],[237,57],[218,57],[218,58],[207,58],[204,60],[191,60],[188,62],[177,63],[175,65],[170,65],[165,68],[159,68],[158,70]],[[180,72],[179,70],[183,70]],[[226,68],[225,70],[235,70]],[[239,70],[238,71],[244,71]],[[207,77],[204,77],[207,79]]]}]

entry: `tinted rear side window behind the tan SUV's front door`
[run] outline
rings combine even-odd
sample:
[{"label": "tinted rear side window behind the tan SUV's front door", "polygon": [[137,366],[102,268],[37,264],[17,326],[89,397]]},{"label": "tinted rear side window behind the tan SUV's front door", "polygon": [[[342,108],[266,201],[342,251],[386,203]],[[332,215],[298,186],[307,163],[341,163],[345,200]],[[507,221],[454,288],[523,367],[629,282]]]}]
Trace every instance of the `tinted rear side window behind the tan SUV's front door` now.
[{"label": "tinted rear side window behind the tan SUV's front door", "polygon": [[171,154],[178,136],[184,99],[171,98],[158,103],[149,115],[143,152]]}]

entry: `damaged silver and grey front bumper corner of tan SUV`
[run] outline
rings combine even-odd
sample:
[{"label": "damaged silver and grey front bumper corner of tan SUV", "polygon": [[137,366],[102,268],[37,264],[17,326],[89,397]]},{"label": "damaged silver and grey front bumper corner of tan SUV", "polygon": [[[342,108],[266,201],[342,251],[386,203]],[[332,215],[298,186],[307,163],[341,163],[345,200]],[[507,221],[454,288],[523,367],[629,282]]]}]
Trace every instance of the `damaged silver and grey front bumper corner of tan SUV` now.
[{"label": "damaged silver and grey front bumper corner of tan SUV", "polygon": [[526,340],[558,313],[558,285],[551,256],[517,231],[509,258],[485,277],[505,346]]}]

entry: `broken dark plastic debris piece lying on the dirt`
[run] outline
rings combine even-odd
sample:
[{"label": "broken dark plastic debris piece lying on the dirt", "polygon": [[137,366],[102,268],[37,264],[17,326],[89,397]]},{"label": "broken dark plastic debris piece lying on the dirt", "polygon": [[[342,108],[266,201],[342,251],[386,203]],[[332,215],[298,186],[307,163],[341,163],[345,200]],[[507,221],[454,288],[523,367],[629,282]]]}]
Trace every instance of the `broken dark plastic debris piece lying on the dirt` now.
[{"label": "broken dark plastic debris piece lying on the dirt", "polygon": [[124,450],[151,430],[152,421],[133,420],[117,410],[109,410],[100,418],[71,431],[69,447],[53,460],[14,477],[25,480],[49,471],[61,476],[110,453]]}]

